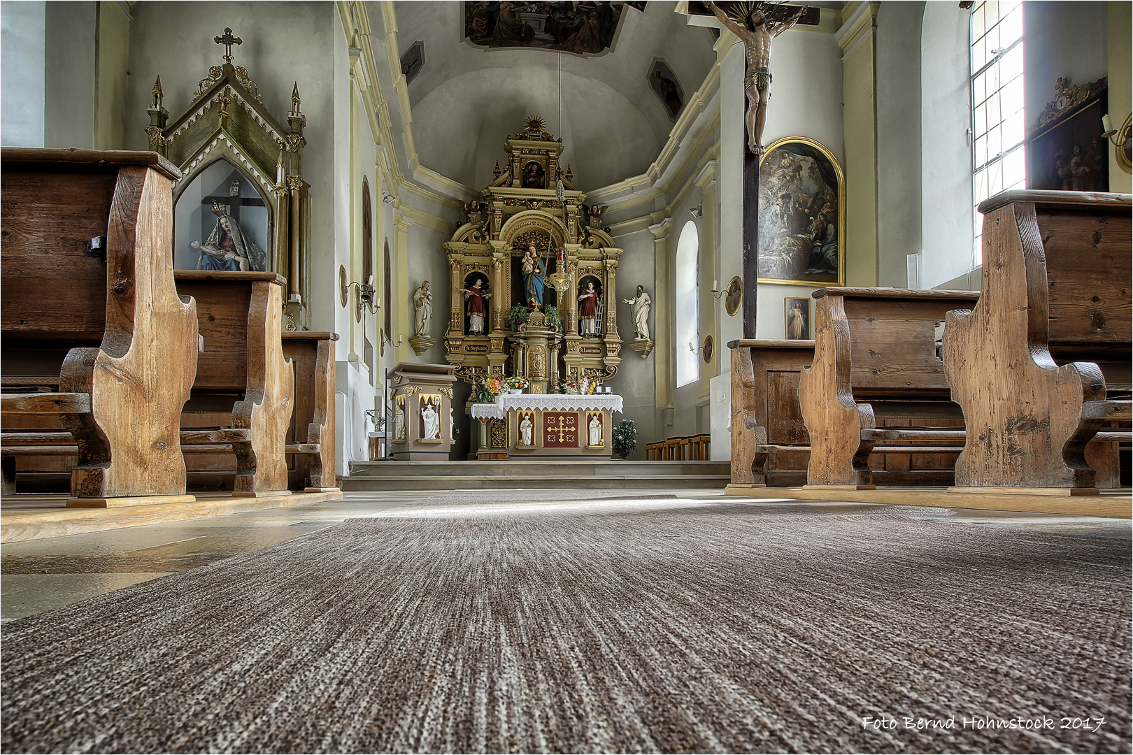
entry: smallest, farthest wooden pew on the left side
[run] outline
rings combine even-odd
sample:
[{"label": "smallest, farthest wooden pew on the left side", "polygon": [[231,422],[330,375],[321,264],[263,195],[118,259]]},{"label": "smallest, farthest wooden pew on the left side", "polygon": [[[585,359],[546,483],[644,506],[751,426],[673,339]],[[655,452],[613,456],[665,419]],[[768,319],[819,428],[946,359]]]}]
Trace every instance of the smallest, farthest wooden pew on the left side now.
[{"label": "smallest, farthest wooden pew on the left side", "polygon": [[295,364],[295,413],[288,428],[292,490],[338,490],[334,477],[334,342],[338,333],[284,332],[283,355]]}]

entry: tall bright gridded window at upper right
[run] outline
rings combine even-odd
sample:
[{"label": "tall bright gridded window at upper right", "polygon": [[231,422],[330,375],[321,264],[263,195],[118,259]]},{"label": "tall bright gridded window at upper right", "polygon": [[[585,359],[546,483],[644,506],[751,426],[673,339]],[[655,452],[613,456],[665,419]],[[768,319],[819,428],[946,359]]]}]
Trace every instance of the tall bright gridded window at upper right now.
[{"label": "tall bright gridded window at upper right", "polygon": [[971,19],[972,267],[982,264],[988,197],[1026,186],[1022,0],[977,2]]}]

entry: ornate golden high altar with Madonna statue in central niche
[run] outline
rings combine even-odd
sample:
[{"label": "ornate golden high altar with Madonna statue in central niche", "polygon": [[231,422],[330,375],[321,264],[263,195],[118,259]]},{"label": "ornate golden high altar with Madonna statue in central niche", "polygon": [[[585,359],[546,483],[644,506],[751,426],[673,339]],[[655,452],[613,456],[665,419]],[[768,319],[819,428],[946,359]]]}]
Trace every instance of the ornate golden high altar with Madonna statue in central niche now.
[{"label": "ornate golden high altar with Madonna statue in central niche", "polygon": [[583,204],[560,163],[562,139],[542,118],[528,118],[504,151],[506,165],[496,164],[495,180],[465,206],[468,222],[444,243],[445,358],[463,380],[521,375],[530,393],[557,393],[568,378],[608,380],[621,362],[622,250],[602,229],[605,207]]}]

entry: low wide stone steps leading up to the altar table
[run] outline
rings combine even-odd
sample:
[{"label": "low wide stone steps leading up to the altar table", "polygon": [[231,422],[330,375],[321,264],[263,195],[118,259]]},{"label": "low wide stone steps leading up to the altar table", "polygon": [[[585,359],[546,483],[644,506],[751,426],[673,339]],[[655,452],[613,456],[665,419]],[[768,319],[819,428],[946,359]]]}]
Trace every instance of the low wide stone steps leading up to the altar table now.
[{"label": "low wide stone steps leading up to the altar table", "polygon": [[724,488],[729,462],[351,462],[343,490]]}]

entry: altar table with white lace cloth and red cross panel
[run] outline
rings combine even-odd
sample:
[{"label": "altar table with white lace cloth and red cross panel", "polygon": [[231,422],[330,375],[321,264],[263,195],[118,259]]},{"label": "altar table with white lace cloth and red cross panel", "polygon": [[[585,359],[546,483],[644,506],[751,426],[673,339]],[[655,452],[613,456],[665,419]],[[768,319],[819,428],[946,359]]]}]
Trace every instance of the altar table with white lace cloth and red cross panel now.
[{"label": "altar table with white lace cloth and red cross panel", "polygon": [[610,458],[614,412],[622,397],[612,394],[501,394],[472,404],[480,422],[480,461],[506,458]]}]

